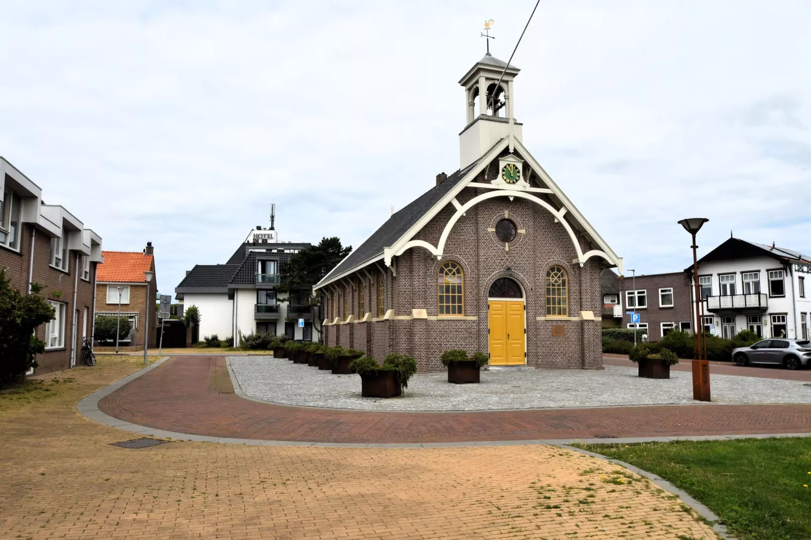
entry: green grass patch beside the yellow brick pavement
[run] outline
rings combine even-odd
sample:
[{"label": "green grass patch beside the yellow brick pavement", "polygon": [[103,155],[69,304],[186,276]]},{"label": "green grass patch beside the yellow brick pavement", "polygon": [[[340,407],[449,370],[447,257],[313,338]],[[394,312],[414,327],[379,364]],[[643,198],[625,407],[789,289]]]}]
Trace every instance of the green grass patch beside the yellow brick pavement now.
[{"label": "green grass patch beside the yellow brick pavement", "polygon": [[811,538],[811,438],[577,446],[672,482],[740,540]]}]

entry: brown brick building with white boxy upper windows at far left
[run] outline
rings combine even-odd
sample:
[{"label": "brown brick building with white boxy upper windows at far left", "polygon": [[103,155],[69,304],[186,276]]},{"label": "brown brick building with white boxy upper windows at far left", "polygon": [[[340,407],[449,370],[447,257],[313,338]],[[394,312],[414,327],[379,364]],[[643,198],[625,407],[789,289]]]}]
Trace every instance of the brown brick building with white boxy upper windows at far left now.
[{"label": "brown brick building with white boxy upper windows at far left", "polygon": [[45,353],[29,373],[48,373],[81,362],[82,339],[92,336],[93,292],[101,237],[57,204],[42,201],[42,189],[0,157],[0,268],[11,286],[29,284],[54,306],[56,318],[36,329]]}]

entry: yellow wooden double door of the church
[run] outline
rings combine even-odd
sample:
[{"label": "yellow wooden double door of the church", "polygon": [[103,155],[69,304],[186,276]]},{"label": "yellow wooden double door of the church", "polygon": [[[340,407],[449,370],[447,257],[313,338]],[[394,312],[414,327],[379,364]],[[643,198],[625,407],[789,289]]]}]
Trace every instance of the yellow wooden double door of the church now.
[{"label": "yellow wooden double door of the church", "polygon": [[523,300],[490,300],[490,365],[526,364],[526,332]]}]

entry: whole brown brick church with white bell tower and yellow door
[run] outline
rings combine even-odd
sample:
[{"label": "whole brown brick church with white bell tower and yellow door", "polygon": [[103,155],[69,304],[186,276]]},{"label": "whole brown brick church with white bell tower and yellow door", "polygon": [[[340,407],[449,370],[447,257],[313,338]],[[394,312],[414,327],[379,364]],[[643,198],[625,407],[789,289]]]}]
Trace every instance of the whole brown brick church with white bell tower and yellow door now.
[{"label": "whole brown brick church with white bell tower and yellow door", "polygon": [[440,371],[446,349],[491,366],[603,366],[600,273],[622,259],[525,148],[518,68],[487,54],[461,78],[460,168],[394,213],[314,289],[324,342]]}]

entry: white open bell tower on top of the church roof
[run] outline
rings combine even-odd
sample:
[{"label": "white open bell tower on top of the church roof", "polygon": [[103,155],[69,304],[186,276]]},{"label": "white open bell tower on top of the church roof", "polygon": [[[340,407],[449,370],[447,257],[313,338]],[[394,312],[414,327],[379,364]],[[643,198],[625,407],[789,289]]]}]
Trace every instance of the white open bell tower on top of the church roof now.
[{"label": "white open bell tower on top of the church roof", "polygon": [[[521,124],[515,121],[513,106],[513,80],[518,71],[521,70],[516,66],[507,66],[507,62],[488,52],[459,81],[465,87],[467,118],[465,129],[459,134],[462,169],[478,160],[504,137],[512,135],[521,140]],[[499,77],[501,83],[497,84]]]}]

